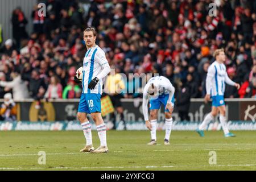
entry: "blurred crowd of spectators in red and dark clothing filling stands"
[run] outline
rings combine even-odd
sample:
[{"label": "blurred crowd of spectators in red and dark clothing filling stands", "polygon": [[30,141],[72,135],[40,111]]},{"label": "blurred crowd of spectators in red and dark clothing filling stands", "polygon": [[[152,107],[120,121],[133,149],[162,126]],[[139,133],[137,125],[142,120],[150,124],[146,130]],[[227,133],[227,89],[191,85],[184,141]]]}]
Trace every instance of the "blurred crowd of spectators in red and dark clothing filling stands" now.
[{"label": "blurred crowd of spectators in red and dark clothing filling stands", "polygon": [[[256,97],[256,1],[90,1],[89,10],[76,1],[43,1],[25,17],[13,11],[13,40],[0,45],[0,98],[7,92],[22,98],[79,98],[81,85],[73,76],[86,52],[82,31],[97,28],[97,44],[119,73],[159,73],[176,88],[177,106],[205,95],[205,78],[212,53],[225,48],[230,78],[240,90],[226,86],[228,98]],[[28,35],[26,24],[33,22]],[[125,89],[141,84],[130,78]],[[20,92],[22,91],[22,92]],[[123,94],[125,98],[140,94]]]}]

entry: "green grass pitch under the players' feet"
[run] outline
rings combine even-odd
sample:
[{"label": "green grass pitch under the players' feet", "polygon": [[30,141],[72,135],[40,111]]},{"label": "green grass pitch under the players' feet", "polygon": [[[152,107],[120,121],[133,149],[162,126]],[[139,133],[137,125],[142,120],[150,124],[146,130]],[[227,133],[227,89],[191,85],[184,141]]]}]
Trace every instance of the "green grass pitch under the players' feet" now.
[{"label": "green grass pitch under the players' feet", "polygon": [[[172,131],[171,145],[164,146],[164,131],[158,144],[147,146],[149,131],[107,131],[108,154],[80,153],[82,131],[1,131],[0,170],[256,170],[256,132]],[[93,131],[93,146],[100,141]],[[46,164],[38,164],[39,151]],[[217,164],[209,164],[210,151]]]}]

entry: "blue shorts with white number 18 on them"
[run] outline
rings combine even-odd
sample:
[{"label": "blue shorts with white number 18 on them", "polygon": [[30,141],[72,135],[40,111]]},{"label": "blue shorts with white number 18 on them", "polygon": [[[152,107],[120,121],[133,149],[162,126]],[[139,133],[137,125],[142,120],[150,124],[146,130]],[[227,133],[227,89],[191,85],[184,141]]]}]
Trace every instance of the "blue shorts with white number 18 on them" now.
[{"label": "blue shorts with white number 18 on them", "polygon": [[80,113],[101,113],[101,94],[82,93],[78,111]]}]

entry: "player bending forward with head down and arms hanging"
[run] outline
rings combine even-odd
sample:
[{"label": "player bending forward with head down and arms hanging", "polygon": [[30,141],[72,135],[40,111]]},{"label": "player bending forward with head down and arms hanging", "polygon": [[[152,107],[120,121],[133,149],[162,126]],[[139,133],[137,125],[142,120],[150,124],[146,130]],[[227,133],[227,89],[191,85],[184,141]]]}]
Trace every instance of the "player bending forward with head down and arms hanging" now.
[{"label": "player bending forward with head down and arms hanging", "polygon": [[[170,80],[164,76],[155,76],[148,80],[143,89],[143,104],[142,110],[146,127],[150,130],[151,141],[148,145],[156,144],[156,125],[158,118],[158,110],[164,105],[166,117],[166,135],[164,144],[170,144],[170,135],[172,129],[172,111],[174,109],[174,92]],[[148,100],[150,100],[150,120],[148,119]]]}]

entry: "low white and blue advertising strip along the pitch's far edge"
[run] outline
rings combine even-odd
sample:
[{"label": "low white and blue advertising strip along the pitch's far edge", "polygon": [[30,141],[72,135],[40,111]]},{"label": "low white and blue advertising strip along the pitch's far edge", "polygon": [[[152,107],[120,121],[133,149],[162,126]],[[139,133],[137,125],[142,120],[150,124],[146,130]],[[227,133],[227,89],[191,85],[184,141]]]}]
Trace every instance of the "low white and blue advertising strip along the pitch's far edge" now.
[{"label": "low white and blue advertising strip along the pitch's far edge", "polygon": [[[123,130],[125,127],[123,122],[117,122],[117,130]],[[199,127],[200,122],[177,122],[172,124],[172,130],[176,131],[195,131]],[[256,130],[255,122],[246,121],[228,121],[229,130]],[[112,122],[106,122],[107,130],[113,128]],[[127,130],[147,130],[144,121],[126,122]],[[0,131],[4,130],[19,130],[19,131],[80,131],[82,130],[78,121],[63,121],[63,122],[2,122]],[[92,124],[92,130],[96,130],[96,125]],[[158,122],[158,130],[165,130],[165,123]],[[220,131],[221,125],[219,122],[210,123],[207,127],[208,131]]]}]

